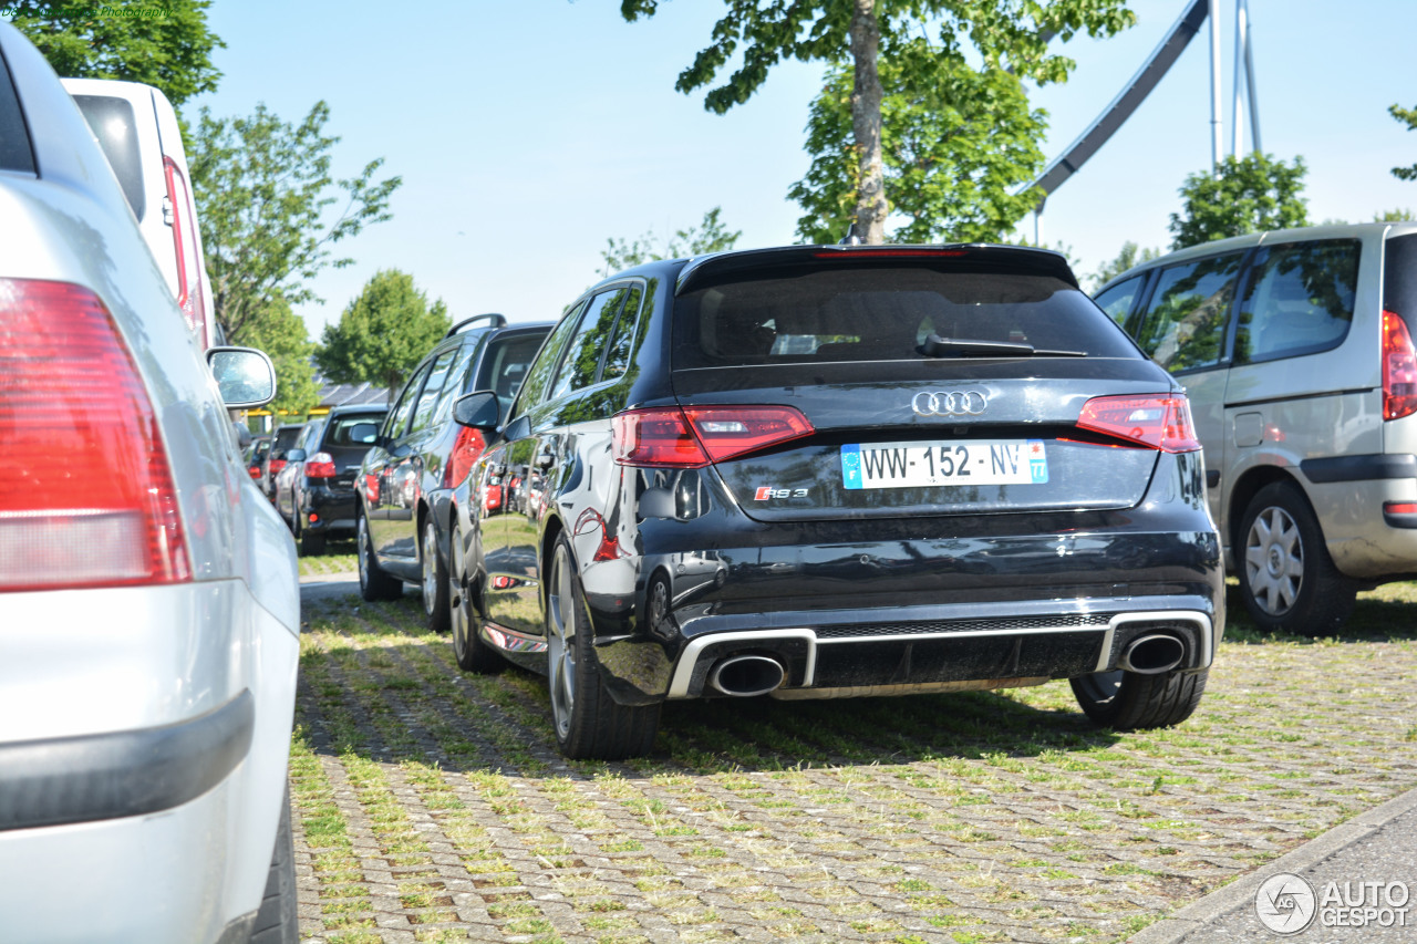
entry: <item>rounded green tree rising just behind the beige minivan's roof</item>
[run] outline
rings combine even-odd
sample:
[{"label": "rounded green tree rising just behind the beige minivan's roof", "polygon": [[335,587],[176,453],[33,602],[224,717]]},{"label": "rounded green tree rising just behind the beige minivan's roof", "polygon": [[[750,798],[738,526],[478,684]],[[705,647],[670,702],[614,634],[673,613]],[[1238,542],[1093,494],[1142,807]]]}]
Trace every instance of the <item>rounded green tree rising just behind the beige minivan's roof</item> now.
[{"label": "rounded green tree rising just behind the beige minivan's roof", "polygon": [[1261,230],[1308,225],[1302,157],[1294,166],[1268,154],[1224,157],[1217,176],[1209,172],[1186,177],[1180,189],[1182,211],[1170,214],[1172,249],[1224,240]]}]

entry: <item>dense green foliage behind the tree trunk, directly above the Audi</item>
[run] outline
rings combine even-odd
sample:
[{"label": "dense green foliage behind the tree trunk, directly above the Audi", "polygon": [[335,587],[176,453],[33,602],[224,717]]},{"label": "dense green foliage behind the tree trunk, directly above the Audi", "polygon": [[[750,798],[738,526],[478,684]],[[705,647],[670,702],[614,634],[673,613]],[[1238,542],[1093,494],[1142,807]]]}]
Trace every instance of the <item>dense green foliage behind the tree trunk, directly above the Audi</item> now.
[{"label": "dense green foliage behind the tree trunk, directly above the Audi", "polygon": [[[1039,203],[1023,190],[1043,167],[1047,123],[1017,77],[937,55],[922,38],[881,60],[881,160],[894,242],[999,242]],[[852,69],[833,65],[812,102],[812,167],[788,191],[805,214],[798,235],[836,242],[856,215]]]}]

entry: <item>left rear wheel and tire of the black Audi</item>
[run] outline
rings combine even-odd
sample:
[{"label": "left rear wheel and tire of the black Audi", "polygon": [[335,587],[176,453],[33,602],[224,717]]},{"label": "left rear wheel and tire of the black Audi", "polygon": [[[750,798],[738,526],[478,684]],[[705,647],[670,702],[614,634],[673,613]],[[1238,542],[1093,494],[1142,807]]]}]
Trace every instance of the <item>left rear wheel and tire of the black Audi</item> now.
[{"label": "left rear wheel and tire of the black Audi", "polygon": [[547,680],[557,747],[570,758],[623,760],[648,754],[659,729],[659,704],[618,704],[601,682],[585,594],[565,534],[551,551],[550,573]]}]

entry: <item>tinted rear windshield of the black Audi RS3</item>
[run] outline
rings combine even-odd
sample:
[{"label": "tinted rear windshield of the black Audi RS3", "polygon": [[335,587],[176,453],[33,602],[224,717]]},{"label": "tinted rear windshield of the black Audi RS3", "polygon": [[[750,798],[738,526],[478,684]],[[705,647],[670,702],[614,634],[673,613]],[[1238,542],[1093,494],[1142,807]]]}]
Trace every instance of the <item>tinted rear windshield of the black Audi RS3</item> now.
[{"label": "tinted rear windshield of the black Audi RS3", "polygon": [[674,305],[674,369],[918,360],[931,335],[1139,357],[1091,299],[1051,276],[856,265],[686,292]]}]

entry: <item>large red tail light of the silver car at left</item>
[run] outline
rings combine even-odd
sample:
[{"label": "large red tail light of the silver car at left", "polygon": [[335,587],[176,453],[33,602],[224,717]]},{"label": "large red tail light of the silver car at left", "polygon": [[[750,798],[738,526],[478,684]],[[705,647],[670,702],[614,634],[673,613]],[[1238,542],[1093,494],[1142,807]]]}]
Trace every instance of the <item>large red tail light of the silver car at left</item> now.
[{"label": "large red tail light of the silver car at left", "polygon": [[0,590],[191,580],[157,415],[103,302],[0,279]]}]

